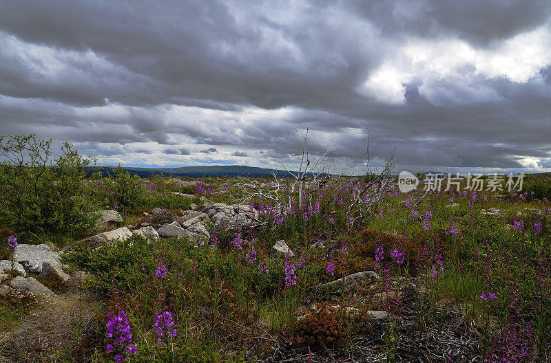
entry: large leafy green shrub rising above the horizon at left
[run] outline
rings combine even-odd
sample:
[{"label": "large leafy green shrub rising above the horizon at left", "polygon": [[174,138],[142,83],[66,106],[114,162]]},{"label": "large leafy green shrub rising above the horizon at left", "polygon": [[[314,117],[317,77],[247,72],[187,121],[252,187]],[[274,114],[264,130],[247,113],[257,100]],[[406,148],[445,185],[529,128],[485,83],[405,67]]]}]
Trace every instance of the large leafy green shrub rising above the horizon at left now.
[{"label": "large leafy green shrub rising above the horizon at left", "polygon": [[51,146],[34,134],[0,135],[0,223],[16,231],[86,232],[98,217],[98,201],[85,188],[92,160],[67,142],[52,160]]}]

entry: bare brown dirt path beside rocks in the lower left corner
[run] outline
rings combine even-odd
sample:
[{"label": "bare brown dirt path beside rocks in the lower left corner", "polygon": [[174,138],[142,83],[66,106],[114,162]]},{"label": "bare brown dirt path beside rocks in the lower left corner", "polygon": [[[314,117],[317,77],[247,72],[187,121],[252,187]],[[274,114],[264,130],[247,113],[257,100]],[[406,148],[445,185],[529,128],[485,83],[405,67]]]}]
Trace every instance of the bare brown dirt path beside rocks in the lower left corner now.
[{"label": "bare brown dirt path beside rocks in the lower left corner", "polygon": [[0,333],[0,363],[55,362],[56,351],[70,343],[72,325],[82,317],[90,327],[96,300],[79,289],[79,272],[72,274],[69,291],[39,296],[38,305],[11,331]]}]

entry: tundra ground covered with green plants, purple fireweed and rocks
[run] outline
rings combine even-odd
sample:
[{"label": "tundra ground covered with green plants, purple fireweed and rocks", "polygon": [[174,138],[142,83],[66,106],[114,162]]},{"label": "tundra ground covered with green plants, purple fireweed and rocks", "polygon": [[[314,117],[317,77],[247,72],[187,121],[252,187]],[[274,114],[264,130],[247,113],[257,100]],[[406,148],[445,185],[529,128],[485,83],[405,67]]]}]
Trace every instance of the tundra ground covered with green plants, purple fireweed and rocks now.
[{"label": "tundra ground covered with green plants, purple fireweed and rocks", "polygon": [[[391,163],[140,179],[50,146],[0,138],[8,362],[551,360],[548,175],[521,192],[402,193]],[[33,274],[26,245],[63,271]],[[31,276],[52,294],[22,289]]]}]

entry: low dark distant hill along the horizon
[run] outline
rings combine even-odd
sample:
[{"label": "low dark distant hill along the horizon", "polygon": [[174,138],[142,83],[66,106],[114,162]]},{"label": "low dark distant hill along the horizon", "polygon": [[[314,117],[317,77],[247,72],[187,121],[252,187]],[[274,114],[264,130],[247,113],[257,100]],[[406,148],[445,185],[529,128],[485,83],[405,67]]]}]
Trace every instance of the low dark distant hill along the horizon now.
[{"label": "low dark distant hill along the horizon", "polygon": [[[132,175],[148,177],[152,174],[176,175],[180,177],[271,177],[272,170],[267,168],[256,168],[244,165],[212,165],[212,166],[182,166],[180,168],[134,168],[123,167]],[[93,168],[88,168],[92,171]],[[101,166],[103,175],[112,174],[116,166]],[[274,170],[278,177],[290,177],[286,170]],[[296,175],[296,172],[292,172]],[[311,174],[309,174],[311,175]]]}]

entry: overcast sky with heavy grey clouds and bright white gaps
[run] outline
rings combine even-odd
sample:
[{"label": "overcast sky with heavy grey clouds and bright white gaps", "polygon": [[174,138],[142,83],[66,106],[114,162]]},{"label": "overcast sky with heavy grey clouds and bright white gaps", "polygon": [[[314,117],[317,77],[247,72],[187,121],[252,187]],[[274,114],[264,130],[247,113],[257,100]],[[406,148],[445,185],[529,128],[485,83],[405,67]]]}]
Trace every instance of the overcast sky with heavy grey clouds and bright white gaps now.
[{"label": "overcast sky with heavy grey clouds and bright white gaps", "polygon": [[551,170],[551,1],[0,3],[0,134],[98,164]]}]

